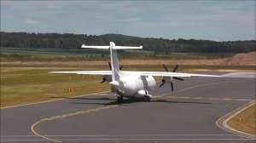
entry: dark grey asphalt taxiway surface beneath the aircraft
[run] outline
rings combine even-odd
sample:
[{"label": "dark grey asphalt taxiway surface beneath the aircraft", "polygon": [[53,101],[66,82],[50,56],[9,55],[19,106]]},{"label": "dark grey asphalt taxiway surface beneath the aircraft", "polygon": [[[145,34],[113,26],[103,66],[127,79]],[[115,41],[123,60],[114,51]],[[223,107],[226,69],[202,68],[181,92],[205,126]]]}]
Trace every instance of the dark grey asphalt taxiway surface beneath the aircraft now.
[{"label": "dark grey asphalt taxiway surface beneath the aircraft", "polygon": [[55,101],[4,108],[1,142],[255,142],[216,125],[255,100],[255,78],[187,77],[174,81],[174,92],[166,83],[152,95],[151,102],[117,102],[109,92],[53,96]]}]

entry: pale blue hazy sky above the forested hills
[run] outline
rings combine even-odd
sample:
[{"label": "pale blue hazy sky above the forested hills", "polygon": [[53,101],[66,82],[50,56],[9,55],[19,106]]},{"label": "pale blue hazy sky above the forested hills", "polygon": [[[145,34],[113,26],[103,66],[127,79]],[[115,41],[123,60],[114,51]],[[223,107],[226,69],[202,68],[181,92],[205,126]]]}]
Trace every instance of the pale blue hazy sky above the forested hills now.
[{"label": "pale blue hazy sky above the forested hills", "polygon": [[1,31],[255,40],[255,1],[1,0]]}]

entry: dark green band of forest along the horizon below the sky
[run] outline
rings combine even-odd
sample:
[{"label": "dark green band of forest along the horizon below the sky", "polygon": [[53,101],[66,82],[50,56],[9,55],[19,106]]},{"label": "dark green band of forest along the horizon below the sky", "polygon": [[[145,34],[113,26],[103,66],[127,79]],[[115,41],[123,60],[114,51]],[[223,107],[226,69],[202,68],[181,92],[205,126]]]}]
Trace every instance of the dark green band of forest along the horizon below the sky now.
[{"label": "dark green band of forest along the horizon below the sky", "polygon": [[87,45],[138,46],[154,54],[175,53],[247,53],[255,51],[255,40],[217,42],[196,39],[164,39],[148,37],[129,37],[120,34],[102,36],[70,33],[28,33],[1,31],[1,47],[32,49],[80,49]]}]

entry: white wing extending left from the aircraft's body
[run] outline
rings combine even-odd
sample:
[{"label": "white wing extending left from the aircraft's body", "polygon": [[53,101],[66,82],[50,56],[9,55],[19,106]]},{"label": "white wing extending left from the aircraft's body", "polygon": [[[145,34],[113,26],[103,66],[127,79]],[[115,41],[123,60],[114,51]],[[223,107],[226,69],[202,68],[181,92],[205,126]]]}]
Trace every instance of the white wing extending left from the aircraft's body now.
[{"label": "white wing extending left from the aircraft's body", "polygon": [[111,71],[65,71],[65,72],[49,72],[49,73],[73,73],[73,74],[85,74],[85,75],[111,75]]}]

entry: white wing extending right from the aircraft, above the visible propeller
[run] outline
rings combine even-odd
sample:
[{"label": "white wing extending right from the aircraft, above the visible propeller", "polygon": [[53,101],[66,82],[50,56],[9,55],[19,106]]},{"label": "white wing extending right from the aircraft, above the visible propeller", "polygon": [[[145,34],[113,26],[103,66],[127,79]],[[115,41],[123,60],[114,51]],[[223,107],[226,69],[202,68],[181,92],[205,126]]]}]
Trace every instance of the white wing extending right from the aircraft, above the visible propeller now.
[{"label": "white wing extending right from the aircraft, above the visible propeller", "polygon": [[161,77],[222,77],[217,75],[193,74],[181,72],[139,72],[142,76],[161,76]]}]

